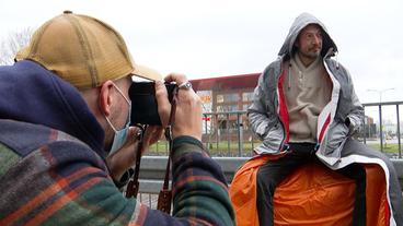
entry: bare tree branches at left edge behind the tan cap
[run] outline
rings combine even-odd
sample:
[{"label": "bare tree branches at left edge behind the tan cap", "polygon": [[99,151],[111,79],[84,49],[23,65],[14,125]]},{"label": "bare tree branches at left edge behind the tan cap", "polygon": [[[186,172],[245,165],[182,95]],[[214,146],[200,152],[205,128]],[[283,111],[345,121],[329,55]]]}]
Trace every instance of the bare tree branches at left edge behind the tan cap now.
[{"label": "bare tree branches at left edge behind the tan cap", "polygon": [[0,43],[0,66],[11,66],[14,63],[15,53],[28,45],[34,29],[26,27],[19,32],[10,33]]}]

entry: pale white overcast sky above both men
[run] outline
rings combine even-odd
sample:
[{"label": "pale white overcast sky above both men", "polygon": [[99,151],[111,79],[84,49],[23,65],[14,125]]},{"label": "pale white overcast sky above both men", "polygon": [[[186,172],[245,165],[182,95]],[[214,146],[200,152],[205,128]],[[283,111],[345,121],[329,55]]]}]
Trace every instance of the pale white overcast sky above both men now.
[{"label": "pale white overcast sky above both men", "polygon": [[0,37],[64,10],[114,26],[137,63],[202,79],[262,72],[295,17],[310,12],[338,46],[361,103],[403,100],[402,0],[0,0]]}]

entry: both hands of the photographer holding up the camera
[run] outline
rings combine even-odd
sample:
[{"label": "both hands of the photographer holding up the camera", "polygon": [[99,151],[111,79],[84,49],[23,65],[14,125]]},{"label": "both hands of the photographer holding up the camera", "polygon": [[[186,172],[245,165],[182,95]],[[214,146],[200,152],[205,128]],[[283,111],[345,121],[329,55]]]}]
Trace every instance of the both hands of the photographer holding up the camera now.
[{"label": "both hands of the photographer holding up the camera", "polygon": [[[187,79],[183,74],[169,74],[165,78],[165,82],[176,82],[176,84],[183,84],[186,81]],[[156,82],[156,98],[162,127],[149,126],[147,128],[142,140],[143,152],[161,139],[171,114],[171,103],[168,99],[165,85],[161,81]],[[106,158],[111,175],[116,181],[119,181],[125,171],[133,167],[136,162],[136,151],[139,144],[137,133],[139,132],[139,128],[131,127],[126,144]],[[175,139],[180,135],[191,135],[202,141],[202,102],[192,88],[180,88],[177,92],[172,138]]]}]

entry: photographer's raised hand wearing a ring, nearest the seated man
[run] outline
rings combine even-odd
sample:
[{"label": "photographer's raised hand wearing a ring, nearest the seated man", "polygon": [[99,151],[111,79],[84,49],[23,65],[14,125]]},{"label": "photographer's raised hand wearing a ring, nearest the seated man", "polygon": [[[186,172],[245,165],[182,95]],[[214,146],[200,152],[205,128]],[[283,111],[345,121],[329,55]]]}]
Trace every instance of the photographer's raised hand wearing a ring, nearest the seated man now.
[{"label": "photographer's raised hand wearing a ring, nearest the seated man", "polygon": [[[183,74],[169,74],[165,82],[183,84],[187,79]],[[166,88],[162,83],[156,85],[156,96],[162,124],[169,120],[171,104],[168,100]],[[168,112],[166,112],[168,111]],[[202,102],[192,88],[180,88],[176,96],[175,121],[172,128],[172,138],[189,135],[202,141]]]}]

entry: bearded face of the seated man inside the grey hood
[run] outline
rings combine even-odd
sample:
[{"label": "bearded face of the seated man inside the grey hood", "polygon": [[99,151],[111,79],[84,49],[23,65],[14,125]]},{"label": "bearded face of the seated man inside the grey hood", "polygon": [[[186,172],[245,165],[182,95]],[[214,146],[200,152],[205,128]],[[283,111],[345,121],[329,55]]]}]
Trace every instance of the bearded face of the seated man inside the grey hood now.
[{"label": "bearded face of the seated man inside the grey hood", "polygon": [[296,46],[299,53],[308,59],[316,59],[322,50],[322,29],[316,24],[309,24],[298,35]]}]

